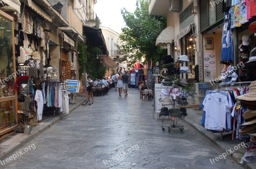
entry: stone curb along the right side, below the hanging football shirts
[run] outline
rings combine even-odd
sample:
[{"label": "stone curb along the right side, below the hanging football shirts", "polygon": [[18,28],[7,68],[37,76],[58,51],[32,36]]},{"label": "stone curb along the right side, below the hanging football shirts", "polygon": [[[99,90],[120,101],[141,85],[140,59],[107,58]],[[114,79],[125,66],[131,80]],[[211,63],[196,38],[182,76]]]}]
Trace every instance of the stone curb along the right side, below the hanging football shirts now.
[{"label": "stone curb along the right side, below the hanging football shirts", "polygon": [[[214,140],[210,135],[208,135],[205,130],[201,130],[198,126],[198,124],[192,124],[189,120],[187,119],[183,119],[183,122],[185,122],[189,127],[193,128],[194,130],[196,130],[197,132],[199,132],[206,140],[214,143],[218,149],[220,149],[221,151],[225,152],[225,150],[228,150],[227,147],[224,147],[223,145],[221,145],[219,142],[217,142],[216,140]],[[244,156],[244,154],[242,153],[232,153],[231,156],[228,155],[229,157],[232,157],[233,160],[235,160],[239,165],[243,166],[245,169],[254,169],[254,167],[251,167],[251,165],[249,163],[243,163],[240,164],[240,160],[241,157]]]}]

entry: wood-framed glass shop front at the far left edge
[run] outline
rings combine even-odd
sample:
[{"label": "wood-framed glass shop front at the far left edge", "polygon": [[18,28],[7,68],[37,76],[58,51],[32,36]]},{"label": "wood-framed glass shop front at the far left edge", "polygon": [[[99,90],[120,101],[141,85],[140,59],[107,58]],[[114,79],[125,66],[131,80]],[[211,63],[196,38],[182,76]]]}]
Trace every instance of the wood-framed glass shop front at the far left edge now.
[{"label": "wood-framed glass shop front at the far left edge", "polygon": [[16,80],[14,21],[13,17],[0,11],[0,140],[15,133],[17,127],[17,95],[13,90]]}]

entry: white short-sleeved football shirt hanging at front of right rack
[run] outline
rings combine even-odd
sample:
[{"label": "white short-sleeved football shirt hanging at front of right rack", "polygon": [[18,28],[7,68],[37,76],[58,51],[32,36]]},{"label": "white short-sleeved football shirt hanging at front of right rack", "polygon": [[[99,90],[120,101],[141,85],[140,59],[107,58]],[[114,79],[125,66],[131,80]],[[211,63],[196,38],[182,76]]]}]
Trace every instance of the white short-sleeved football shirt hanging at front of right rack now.
[{"label": "white short-sleeved football shirt hanging at front of right rack", "polygon": [[222,131],[223,128],[226,129],[227,110],[230,113],[227,95],[221,93],[208,94],[202,104],[205,111],[205,128],[219,131]]}]

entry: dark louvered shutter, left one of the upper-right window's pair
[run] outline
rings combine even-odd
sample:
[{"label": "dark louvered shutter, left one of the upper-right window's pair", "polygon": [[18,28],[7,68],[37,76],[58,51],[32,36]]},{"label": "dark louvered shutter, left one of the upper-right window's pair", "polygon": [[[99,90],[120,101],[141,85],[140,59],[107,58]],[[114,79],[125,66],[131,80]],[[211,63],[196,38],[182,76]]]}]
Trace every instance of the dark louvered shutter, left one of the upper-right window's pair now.
[{"label": "dark louvered shutter, left one of the upper-right window's pair", "polygon": [[208,22],[208,1],[199,1],[200,9],[200,31],[206,29],[209,26]]}]

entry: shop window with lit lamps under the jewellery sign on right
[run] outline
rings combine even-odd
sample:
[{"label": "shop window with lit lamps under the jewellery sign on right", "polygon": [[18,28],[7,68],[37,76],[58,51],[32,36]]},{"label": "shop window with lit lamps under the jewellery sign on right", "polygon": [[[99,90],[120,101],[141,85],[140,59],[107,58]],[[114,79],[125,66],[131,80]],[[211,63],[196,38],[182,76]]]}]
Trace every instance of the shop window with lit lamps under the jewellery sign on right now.
[{"label": "shop window with lit lamps under the jewellery sign on right", "polygon": [[186,74],[187,79],[195,79],[195,43],[191,42],[190,37],[193,37],[193,34],[187,34],[185,36],[185,53],[188,56],[189,62],[186,62],[188,70],[190,73]]}]

